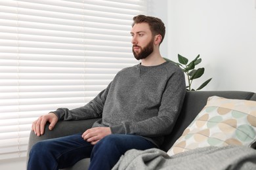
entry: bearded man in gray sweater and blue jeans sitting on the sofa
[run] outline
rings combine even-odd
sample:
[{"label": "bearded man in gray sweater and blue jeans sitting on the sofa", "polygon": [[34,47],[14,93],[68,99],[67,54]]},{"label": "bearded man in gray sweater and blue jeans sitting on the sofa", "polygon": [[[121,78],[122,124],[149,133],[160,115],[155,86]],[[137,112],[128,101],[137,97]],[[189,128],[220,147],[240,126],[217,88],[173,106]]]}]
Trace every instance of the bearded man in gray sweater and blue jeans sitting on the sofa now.
[{"label": "bearded man in gray sweater and blue jeans sitting on the sofa", "polygon": [[158,148],[171,133],[186,93],[184,73],[161,57],[163,22],[143,15],[133,21],[133,54],[141,63],[119,71],[87,105],[60,108],[33,122],[40,136],[46,122],[53,129],[58,120],[101,118],[82,134],[35,144],[28,169],[61,169],[83,158],[91,158],[89,169],[111,169],[127,150]]}]

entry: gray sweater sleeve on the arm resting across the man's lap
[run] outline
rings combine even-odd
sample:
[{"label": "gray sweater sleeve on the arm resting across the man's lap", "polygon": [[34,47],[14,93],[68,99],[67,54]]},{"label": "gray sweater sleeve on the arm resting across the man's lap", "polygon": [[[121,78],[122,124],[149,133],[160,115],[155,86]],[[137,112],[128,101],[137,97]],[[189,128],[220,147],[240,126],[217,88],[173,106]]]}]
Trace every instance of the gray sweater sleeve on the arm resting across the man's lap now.
[{"label": "gray sweater sleeve on the arm resting across the man's lap", "polygon": [[139,122],[123,121],[117,126],[110,127],[112,133],[134,134],[144,137],[158,137],[171,133],[181,111],[185,94],[184,73],[177,71],[167,81],[158,116]]}]

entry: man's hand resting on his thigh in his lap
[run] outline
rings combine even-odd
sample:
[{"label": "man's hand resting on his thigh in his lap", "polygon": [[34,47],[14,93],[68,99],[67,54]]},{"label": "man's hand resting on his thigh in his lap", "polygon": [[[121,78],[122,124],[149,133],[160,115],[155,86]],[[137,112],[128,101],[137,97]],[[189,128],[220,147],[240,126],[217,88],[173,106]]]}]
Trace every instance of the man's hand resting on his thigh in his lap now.
[{"label": "man's hand resting on his thigh in his lap", "polygon": [[93,127],[91,129],[87,129],[87,131],[83,133],[82,137],[85,141],[91,144],[96,144],[100,139],[110,134],[110,127]]}]

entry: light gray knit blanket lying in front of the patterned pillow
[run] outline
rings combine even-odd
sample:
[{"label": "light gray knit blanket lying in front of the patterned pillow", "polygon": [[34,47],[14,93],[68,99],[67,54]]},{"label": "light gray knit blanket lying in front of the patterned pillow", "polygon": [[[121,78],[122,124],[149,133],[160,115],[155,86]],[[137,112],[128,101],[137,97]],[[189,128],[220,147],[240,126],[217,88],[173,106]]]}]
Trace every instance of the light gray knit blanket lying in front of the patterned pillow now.
[{"label": "light gray knit blanket lying in front of the patterned pillow", "polygon": [[256,150],[246,146],[207,146],[168,156],[163,150],[128,150],[113,167],[122,169],[256,169]]}]

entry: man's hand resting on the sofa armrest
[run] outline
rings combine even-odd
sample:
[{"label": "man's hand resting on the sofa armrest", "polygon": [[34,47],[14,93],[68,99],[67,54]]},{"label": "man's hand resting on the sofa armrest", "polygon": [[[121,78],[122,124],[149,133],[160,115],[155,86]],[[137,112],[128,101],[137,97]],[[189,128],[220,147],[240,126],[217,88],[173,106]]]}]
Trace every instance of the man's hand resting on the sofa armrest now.
[{"label": "man's hand resting on the sofa armrest", "polygon": [[35,132],[35,135],[40,136],[45,132],[45,124],[50,122],[49,130],[52,130],[55,124],[58,122],[58,117],[53,112],[40,116],[32,124],[32,131]]}]

